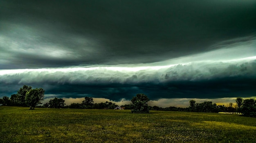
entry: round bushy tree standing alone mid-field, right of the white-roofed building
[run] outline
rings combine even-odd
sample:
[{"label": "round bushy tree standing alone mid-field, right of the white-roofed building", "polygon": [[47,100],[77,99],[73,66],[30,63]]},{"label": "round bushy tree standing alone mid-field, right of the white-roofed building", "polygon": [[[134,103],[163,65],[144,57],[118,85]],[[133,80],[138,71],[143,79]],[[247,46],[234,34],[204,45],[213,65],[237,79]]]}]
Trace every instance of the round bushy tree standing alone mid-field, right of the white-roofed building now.
[{"label": "round bushy tree standing alone mid-field, right of the white-roofed building", "polygon": [[149,113],[149,98],[147,97],[147,95],[139,93],[135,97],[133,97],[131,101],[132,113]]}]

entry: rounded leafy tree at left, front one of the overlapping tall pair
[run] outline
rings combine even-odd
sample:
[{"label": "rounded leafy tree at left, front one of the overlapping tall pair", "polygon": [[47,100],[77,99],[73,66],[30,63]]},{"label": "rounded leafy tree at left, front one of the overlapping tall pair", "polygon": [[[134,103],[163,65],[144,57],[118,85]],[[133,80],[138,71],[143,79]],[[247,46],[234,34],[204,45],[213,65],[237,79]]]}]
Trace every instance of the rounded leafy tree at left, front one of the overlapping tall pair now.
[{"label": "rounded leafy tree at left, front one of the overlapping tall pair", "polygon": [[31,110],[32,108],[35,109],[36,105],[42,104],[41,101],[43,101],[44,97],[45,91],[42,88],[31,89],[26,93],[25,101]]}]

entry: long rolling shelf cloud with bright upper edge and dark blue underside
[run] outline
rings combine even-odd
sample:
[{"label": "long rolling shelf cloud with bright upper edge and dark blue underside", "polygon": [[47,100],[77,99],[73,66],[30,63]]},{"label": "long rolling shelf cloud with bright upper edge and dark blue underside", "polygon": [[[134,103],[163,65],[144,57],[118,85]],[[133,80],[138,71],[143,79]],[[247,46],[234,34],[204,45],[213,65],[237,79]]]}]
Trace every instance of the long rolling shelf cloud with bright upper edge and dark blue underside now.
[{"label": "long rolling shelf cloud with bright upper edge and dark blue underside", "polygon": [[[256,91],[256,57],[225,62],[193,62],[160,69],[145,67],[76,67],[1,71],[1,91],[13,94],[17,85],[43,87],[46,94],[65,98],[92,96],[130,99],[145,93],[161,98],[251,97]],[[7,88],[12,87],[13,89]],[[13,91],[13,92],[11,92]],[[2,94],[3,94],[2,93]]]}]

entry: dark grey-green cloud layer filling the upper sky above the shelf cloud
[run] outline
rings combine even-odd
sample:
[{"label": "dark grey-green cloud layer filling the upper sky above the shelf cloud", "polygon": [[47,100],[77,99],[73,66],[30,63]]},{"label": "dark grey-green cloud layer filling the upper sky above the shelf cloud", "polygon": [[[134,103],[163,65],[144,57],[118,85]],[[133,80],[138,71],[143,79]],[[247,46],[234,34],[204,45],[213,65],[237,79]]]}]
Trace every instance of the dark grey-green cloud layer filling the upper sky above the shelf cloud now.
[{"label": "dark grey-green cloud layer filling the upper sky above the shelf cloud", "polygon": [[153,63],[206,52],[255,34],[255,6],[254,0],[1,0],[0,68]]}]

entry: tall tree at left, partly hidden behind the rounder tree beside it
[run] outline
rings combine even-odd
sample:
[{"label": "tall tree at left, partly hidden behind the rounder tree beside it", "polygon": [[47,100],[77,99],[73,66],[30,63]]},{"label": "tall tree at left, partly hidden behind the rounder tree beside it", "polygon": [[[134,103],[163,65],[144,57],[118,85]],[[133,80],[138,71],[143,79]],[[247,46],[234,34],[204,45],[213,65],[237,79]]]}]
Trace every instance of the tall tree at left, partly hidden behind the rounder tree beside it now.
[{"label": "tall tree at left, partly hidden behind the rounder tree beside it", "polygon": [[31,89],[32,87],[27,85],[23,85],[23,87],[20,88],[20,90],[17,92],[16,99],[14,99],[15,101],[17,101],[18,106],[23,106],[23,107],[27,106],[25,97],[27,92],[30,91]]}]

